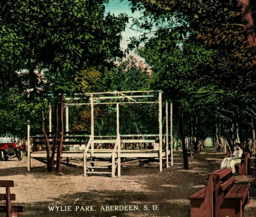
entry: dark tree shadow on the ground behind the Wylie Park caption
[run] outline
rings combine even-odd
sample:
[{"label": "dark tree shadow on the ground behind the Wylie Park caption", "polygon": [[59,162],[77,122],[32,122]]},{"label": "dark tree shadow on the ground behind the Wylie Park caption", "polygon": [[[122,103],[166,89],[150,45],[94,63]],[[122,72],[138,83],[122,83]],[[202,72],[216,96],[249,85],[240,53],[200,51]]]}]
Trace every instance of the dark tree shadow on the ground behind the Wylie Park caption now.
[{"label": "dark tree shadow on the ground behind the Wylie Park caption", "polygon": [[[76,193],[63,195],[60,198],[53,198],[54,202],[40,202],[25,204],[28,213],[20,216],[52,216],[52,217],[129,217],[129,216],[189,216],[190,208],[187,199],[170,200],[168,195],[160,195],[156,192],[133,192],[133,191],[90,191],[85,193]],[[48,206],[61,206],[62,210],[70,206],[71,211],[59,211],[54,208],[50,211]],[[108,207],[118,211],[107,211]],[[124,211],[125,205],[132,205],[130,211]],[[82,208],[83,206],[83,208]],[[93,211],[86,211],[86,206],[93,206]],[[146,208],[147,206],[147,208]],[[154,206],[154,207],[153,207]],[[79,207],[79,208],[78,208]],[[130,208],[131,208],[130,207]],[[135,207],[135,208],[134,208]],[[101,211],[100,211],[101,209]],[[135,210],[134,210],[135,209]],[[137,210],[138,209],[138,210]],[[146,210],[145,210],[146,209]],[[156,210],[153,210],[156,209]],[[76,211],[77,210],[77,211]],[[84,211],[85,210],[85,211]],[[88,207],[88,210],[91,208]]]}]

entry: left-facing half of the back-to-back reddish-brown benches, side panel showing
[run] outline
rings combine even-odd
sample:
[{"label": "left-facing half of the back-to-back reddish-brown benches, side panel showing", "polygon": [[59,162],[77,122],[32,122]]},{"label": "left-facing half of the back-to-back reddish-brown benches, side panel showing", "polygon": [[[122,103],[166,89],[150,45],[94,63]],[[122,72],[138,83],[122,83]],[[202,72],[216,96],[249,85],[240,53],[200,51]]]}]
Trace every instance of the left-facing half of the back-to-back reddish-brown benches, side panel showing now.
[{"label": "left-facing half of the back-to-back reddish-brown benches, side panel showing", "polygon": [[188,199],[191,205],[191,217],[213,217],[214,216],[214,174],[225,170],[225,168],[219,169],[212,173],[207,174],[206,180],[207,186],[190,195]]}]

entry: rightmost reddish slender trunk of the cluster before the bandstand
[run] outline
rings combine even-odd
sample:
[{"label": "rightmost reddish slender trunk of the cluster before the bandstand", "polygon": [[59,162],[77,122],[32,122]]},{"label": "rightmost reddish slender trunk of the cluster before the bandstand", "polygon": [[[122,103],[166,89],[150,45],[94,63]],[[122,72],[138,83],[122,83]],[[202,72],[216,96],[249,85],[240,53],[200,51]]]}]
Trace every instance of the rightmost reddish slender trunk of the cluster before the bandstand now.
[{"label": "rightmost reddish slender trunk of the cluster before the bandstand", "polygon": [[60,111],[59,111],[59,119],[60,119],[60,140],[59,145],[57,147],[57,164],[56,164],[56,171],[60,173],[61,171],[61,152],[62,152],[62,144],[63,144],[63,132],[64,132],[64,124],[63,124],[63,94],[60,96]]}]

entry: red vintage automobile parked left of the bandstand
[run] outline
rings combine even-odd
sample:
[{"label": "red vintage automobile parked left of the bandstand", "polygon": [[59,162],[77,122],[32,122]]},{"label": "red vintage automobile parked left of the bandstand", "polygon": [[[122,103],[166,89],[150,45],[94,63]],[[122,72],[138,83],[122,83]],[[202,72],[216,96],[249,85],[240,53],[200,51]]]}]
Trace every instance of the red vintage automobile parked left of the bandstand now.
[{"label": "red vintage automobile parked left of the bandstand", "polygon": [[8,160],[9,158],[17,157],[18,160],[22,160],[23,149],[21,145],[18,145],[15,140],[2,138],[0,139],[0,161]]}]

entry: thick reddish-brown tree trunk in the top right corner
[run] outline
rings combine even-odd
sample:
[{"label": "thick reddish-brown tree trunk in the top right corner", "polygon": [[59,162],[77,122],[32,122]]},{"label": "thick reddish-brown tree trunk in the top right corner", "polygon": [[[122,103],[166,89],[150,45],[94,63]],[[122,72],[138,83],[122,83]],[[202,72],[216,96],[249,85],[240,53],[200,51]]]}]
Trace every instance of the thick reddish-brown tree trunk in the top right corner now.
[{"label": "thick reddish-brown tree trunk in the top right corner", "polygon": [[252,13],[249,0],[237,0],[237,7],[240,9],[241,18],[244,24],[244,31],[247,34],[247,42],[253,50],[256,50],[255,27],[253,25]]}]

